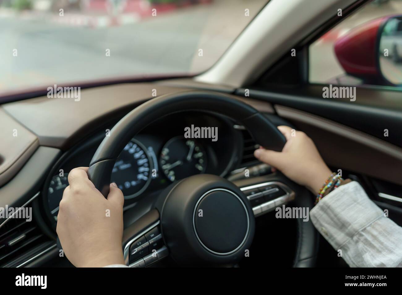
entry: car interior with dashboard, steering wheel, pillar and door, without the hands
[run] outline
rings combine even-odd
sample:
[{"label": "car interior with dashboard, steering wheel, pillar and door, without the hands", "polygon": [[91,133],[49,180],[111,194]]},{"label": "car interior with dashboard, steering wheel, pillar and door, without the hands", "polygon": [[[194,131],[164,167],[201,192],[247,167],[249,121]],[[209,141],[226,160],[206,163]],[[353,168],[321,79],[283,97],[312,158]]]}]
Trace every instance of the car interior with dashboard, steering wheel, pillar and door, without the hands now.
[{"label": "car interior with dashboard, steering wheel, pillar and door, without the hands", "polygon": [[[305,132],[332,171],[402,226],[402,43],[381,35],[400,28],[402,11],[337,36],[328,50],[342,75],[324,83],[311,80],[314,46],[373,3],[286,2],[268,1],[195,75],[85,81],[79,101],[49,98],[46,87],[4,94],[0,207],[31,207],[32,221],[0,218],[0,266],[73,267],[60,256],[57,214],[68,173],[89,167],[104,196],[111,182],[123,191],[130,267],[348,267],[311,221],[275,218],[279,206],[313,208],[315,199],[253,155],[282,150],[281,125]],[[356,99],[324,98],[329,84],[355,87]],[[217,140],[184,136],[195,127],[215,128]],[[215,213],[200,221],[202,203]]]}]

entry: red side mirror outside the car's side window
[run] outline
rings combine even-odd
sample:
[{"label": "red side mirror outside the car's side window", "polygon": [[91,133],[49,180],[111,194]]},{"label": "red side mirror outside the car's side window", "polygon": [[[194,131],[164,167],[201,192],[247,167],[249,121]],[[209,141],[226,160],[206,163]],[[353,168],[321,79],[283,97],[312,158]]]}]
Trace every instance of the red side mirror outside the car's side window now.
[{"label": "red side mirror outside the car's side window", "polygon": [[371,20],[351,29],[335,41],[335,55],[348,75],[366,84],[402,84],[401,18],[385,16]]}]

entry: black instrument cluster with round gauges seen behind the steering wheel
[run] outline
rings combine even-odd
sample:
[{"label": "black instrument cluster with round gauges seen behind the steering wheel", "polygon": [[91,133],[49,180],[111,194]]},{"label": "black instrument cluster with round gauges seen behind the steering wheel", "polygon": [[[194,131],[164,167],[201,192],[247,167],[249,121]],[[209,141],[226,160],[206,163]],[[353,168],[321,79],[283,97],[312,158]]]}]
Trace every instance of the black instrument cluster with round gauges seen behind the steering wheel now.
[{"label": "black instrument cluster with round gauges seen behind the steering wheel", "polygon": [[[180,112],[164,116],[135,135],[125,145],[113,167],[111,182],[123,192],[125,209],[140,198],[158,192],[174,181],[199,173],[226,176],[238,168],[243,153],[242,132],[236,122],[207,112]],[[216,130],[216,138],[186,136],[189,128]],[[74,146],[55,163],[43,188],[45,211],[55,225],[59,202],[68,186],[68,173],[87,167],[111,126],[103,126]]]}]

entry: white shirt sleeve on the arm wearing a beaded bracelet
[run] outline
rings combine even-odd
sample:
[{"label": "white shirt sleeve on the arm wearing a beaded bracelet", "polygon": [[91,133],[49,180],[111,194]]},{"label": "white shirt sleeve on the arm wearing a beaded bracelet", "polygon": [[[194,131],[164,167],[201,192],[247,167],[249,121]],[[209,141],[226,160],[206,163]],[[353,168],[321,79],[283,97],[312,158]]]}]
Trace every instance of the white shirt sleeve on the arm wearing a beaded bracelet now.
[{"label": "white shirt sleeve on the arm wearing a beaded bracelet", "polygon": [[402,227],[390,217],[356,181],[341,185],[310,211],[318,232],[342,250],[350,267],[402,267]]}]

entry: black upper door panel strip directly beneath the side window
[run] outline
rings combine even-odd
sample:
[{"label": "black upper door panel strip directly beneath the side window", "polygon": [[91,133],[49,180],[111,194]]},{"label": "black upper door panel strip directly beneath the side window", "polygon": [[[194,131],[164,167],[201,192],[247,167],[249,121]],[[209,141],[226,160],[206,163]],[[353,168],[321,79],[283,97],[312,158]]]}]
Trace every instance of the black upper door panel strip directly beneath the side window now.
[{"label": "black upper door panel strip directly beneath the side window", "polygon": [[[393,91],[357,87],[359,98],[355,102],[343,98],[323,99],[322,87],[306,85],[276,92],[250,89],[250,97],[342,122],[402,148],[402,100],[396,87]],[[244,89],[236,90],[236,94],[244,96]],[[390,130],[388,137],[384,137],[385,128]]]}]

